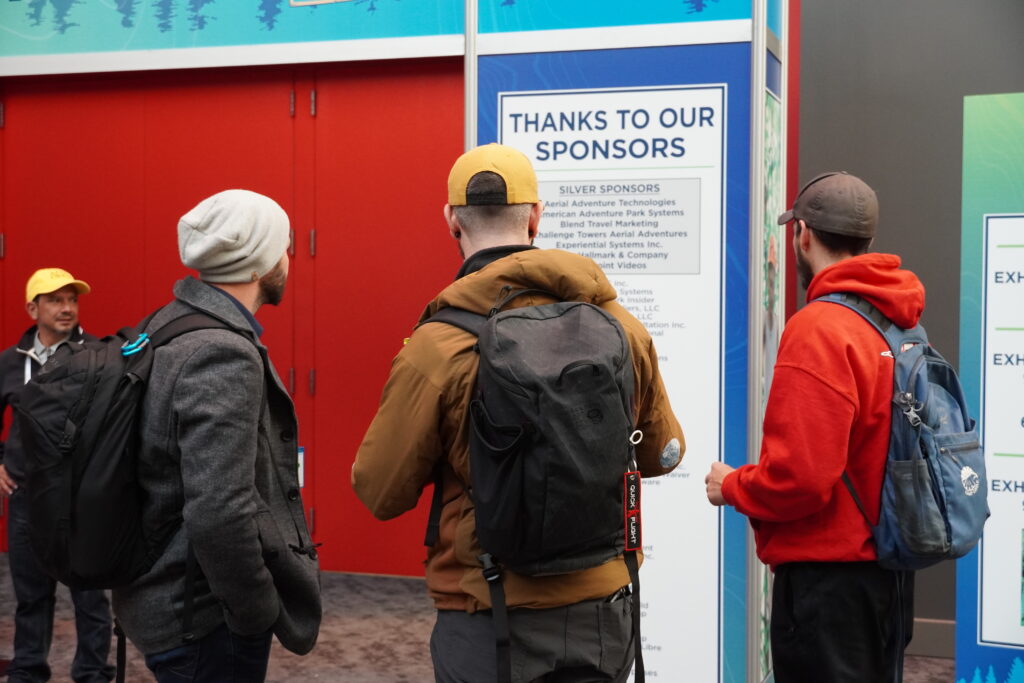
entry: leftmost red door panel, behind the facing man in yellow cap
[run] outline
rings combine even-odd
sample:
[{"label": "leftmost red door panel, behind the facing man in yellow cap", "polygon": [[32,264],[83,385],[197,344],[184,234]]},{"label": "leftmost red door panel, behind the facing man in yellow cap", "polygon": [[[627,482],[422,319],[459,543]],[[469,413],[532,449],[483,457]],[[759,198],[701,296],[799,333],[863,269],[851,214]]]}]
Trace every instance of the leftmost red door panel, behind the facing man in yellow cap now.
[{"label": "leftmost red door panel, behind the facing man in yellow cap", "polygon": [[142,100],[103,81],[58,87],[54,79],[9,83],[4,96],[2,343],[32,325],[25,283],[36,268],[58,266],[85,280],[80,316],[93,334],[142,310],[144,264]]}]

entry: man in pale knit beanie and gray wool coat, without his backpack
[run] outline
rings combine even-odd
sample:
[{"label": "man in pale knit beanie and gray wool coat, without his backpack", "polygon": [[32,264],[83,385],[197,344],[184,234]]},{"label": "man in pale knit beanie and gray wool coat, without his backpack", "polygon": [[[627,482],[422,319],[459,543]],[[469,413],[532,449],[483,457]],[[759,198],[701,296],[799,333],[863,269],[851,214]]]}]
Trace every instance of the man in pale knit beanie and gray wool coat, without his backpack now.
[{"label": "man in pale knit beanie and gray wool coat, without his backpack", "polygon": [[295,410],[255,317],[284,296],[288,244],[285,211],[245,189],[205,199],[178,222],[181,262],[199,279],[174,286],[148,330],[196,312],[220,327],[156,349],[140,430],[142,521],[174,530],[153,568],[114,592],[160,683],[262,681],[273,636],[300,654],[316,642],[319,567]]}]

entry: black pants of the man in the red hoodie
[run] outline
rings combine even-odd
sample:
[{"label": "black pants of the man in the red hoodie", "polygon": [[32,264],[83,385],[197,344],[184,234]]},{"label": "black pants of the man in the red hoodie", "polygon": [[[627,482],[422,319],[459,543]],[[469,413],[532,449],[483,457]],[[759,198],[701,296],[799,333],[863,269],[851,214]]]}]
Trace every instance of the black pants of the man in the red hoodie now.
[{"label": "black pants of the man in the red hoodie", "polygon": [[795,562],[775,569],[776,683],[899,683],[912,626],[912,571],[876,562]]}]

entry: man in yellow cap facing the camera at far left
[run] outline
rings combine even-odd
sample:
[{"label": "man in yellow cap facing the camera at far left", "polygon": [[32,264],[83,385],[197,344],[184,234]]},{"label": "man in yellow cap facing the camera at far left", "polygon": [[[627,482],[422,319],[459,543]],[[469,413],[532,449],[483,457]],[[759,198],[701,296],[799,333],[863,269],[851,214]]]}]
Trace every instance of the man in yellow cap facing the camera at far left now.
[{"label": "man in yellow cap facing the camera at far left", "polygon": [[[78,324],[78,297],[89,286],[61,268],[41,268],[29,278],[25,300],[35,325],[22,340],[0,353],[0,415],[16,402],[22,387],[65,344],[80,344],[94,337]],[[36,563],[28,519],[25,459],[17,423],[0,443],[0,494],[10,497],[8,559],[17,611],[14,615],[14,659],[7,669],[9,681],[47,681],[56,583]],[[71,676],[76,683],[110,681],[114,668],[106,663],[111,649],[111,605],[103,591],[71,592],[75,603],[78,647]]]}]

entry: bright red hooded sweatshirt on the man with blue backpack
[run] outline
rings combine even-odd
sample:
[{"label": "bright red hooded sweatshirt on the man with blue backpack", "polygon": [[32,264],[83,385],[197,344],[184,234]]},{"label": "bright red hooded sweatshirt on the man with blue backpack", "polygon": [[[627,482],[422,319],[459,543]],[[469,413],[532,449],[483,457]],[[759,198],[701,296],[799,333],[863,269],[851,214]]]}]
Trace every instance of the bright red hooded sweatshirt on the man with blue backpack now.
[{"label": "bright red hooded sweatshirt on the man with blue backpack", "polygon": [[[822,269],[807,299],[856,294],[901,328],[916,325],[925,288],[891,254],[863,254]],[[877,521],[889,450],[893,359],[859,313],[811,303],[785,326],[757,465],[722,482],[729,505],[751,518],[758,557],[785,562],[878,559],[871,531],[843,483],[849,472]]]}]

